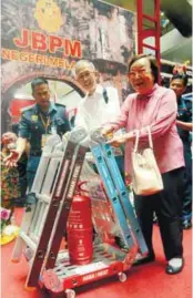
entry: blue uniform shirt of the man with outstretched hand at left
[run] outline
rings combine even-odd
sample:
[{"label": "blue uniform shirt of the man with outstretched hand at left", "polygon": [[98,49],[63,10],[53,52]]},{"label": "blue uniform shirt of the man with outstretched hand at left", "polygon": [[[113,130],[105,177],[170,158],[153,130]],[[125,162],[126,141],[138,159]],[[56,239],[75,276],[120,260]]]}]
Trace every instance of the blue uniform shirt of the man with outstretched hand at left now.
[{"label": "blue uniform shirt of the man with outstretched hand at left", "polygon": [[[49,125],[45,129],[45,123]],[[50,103],[49,112],[41,112],[38,104],[27,107],[19,123],[19,136],[28,138],[31,150],[30,153],[41,152],[42,135],[59,134],[63,135],[70,131],[70,123],[67,117],[65,106]]]}]

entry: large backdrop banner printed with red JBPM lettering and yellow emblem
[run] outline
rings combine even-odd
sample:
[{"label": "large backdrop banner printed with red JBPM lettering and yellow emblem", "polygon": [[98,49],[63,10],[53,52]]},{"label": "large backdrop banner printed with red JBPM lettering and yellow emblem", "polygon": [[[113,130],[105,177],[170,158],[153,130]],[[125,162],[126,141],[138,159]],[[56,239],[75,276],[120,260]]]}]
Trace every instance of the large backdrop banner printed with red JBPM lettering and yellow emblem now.
[{"label": "large backdrop banner printed with red JBPM lettering and yellow emblem", "polygon": [[132,12],[95,0],[7,0],[1,6],[2,101],[39,75],[74,88],[72,70],[80,59],[91,60],[101,82],[118,88],[121,100],[128,95]]}]

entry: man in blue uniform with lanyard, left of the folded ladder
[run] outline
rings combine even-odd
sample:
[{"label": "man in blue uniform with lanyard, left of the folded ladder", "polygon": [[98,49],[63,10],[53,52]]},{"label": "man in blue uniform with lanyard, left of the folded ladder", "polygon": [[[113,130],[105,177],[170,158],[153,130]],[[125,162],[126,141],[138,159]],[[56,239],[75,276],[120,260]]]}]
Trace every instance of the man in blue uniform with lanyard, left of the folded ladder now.
[{"label": "man in blue uniform with lanyard, left of the folded ladder", "polygon": [[[62,136],[70,131],[65,106],[50,102],[48,81],[43,78],[37,78],[31,82],[31,89],[35,104],[22,111],[17,148],[4,161],[8,166],[16,166],[29,142],[30,154],[27,164],[29,194],[48,136],[51,134]],[[30,195],[27,197],[28,203],[33,203]]]}]

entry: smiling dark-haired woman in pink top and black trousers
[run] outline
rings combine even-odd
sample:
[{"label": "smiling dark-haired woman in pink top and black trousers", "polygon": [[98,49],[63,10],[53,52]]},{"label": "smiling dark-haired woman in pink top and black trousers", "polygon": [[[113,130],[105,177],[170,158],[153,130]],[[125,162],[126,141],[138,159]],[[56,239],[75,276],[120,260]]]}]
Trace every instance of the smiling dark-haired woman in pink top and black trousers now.
[{"label": "smiling dark-haired woman in pink top and black trousers", "polygon": [[184,158],[183,144],[176,131],[176,97],[172,90],[158,85],[159,69],[153,56],[138,55],[129,63],[129,80],[136,93],[128,96],[121,109],[121,116],[106,124],[102,134],[121,127],[126,133],[114,136],[113,146],[125,144],[125,171],[132,173],[131,153],[135,141],[135,130],[140,130],[140,147],[149,144],[146,126],[150,125],[154,155],[162,174],[164,189],[150,196],[134,194],[136,215],[149,247],[149,256],[138,259],[135,265],[155,259],[152,245],[153,213],[156,213],[162,236],[166,273],[177,274],[184,265],[182,247],[182,192]]}]

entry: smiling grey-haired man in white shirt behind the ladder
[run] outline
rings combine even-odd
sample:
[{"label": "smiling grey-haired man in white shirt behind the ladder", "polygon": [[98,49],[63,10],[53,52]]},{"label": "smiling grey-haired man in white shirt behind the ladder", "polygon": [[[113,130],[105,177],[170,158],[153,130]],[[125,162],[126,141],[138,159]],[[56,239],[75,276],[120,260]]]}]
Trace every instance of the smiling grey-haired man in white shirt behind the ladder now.
[{"label": "smiling grey-haired man in white shirt behind the ladder", "polygon": [[116,89],[98,84],[99,72],[88,60],[80,60],[75,64],[74,72],[77,82],[87,91],[85,97],[78,106],[75,125],[92,131],[108,121],[113,121],[120,114]]}]

